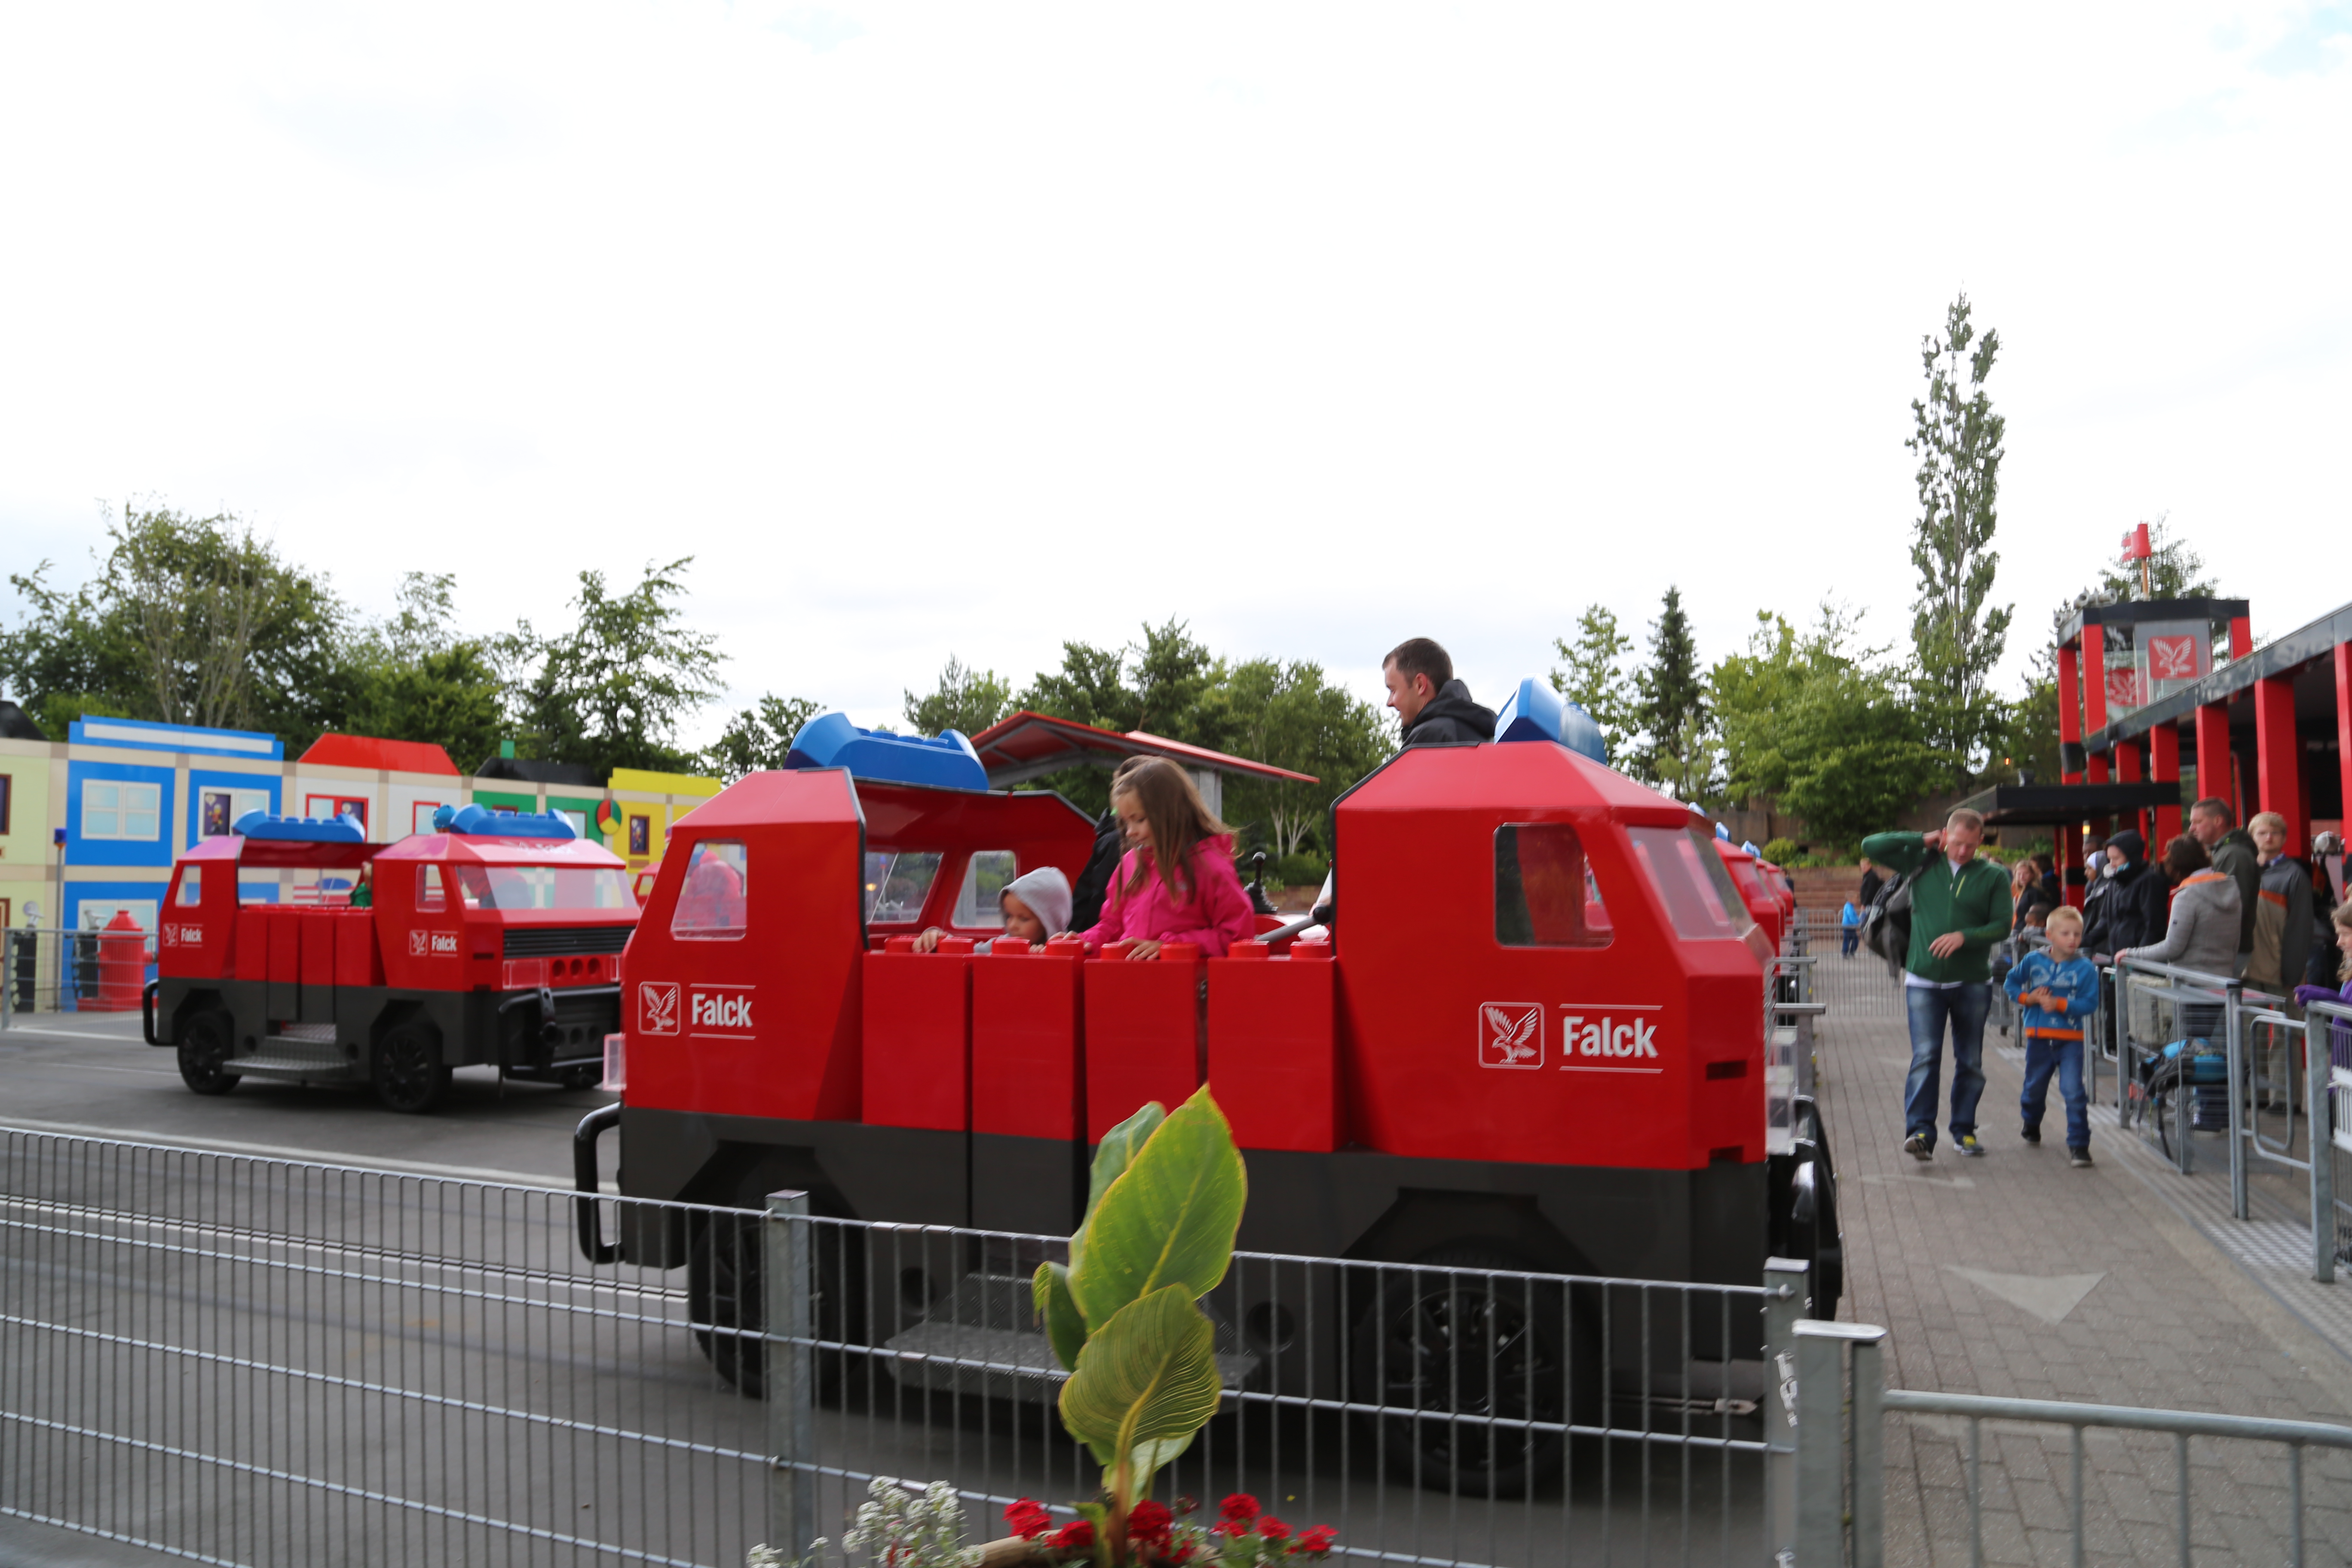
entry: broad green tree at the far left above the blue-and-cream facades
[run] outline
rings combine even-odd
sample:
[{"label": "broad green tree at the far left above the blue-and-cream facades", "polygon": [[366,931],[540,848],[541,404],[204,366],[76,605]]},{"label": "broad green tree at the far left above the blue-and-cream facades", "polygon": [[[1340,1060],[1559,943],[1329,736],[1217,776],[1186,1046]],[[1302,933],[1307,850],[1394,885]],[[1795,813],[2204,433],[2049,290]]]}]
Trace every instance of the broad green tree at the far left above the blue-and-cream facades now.
[{"label": "broad green tree at the far left above the blue-and-cream facades", "polygon": [[96,574],[73,592],[49,562],[9,576],[26,599],[0,670],[45,729],[82,712],[263,729],[289,750],[350,701],[350,611],[327,578],[282,559],[230,512],[122,508]]}]

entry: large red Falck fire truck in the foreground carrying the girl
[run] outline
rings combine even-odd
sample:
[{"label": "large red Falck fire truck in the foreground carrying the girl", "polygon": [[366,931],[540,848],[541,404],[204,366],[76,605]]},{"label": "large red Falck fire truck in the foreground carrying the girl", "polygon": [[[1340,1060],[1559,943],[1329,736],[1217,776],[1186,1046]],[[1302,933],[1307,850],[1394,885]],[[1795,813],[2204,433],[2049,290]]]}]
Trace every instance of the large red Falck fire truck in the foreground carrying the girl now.
[{"label": "large red Falck fire truck in the foreground carrying the girl", "polygon": [[[1075,875],[1091,823],[988,790],[962,736],[823,715],[786,771],[670,835],[628,950],[621,1103],[576,1138],[583,1248],[684,1265],[699,1324],[753,1328],[753,1232],[623,1208],[607,1239],[586,1197],[602,1133],[633,1199],[804,1190],[821,1215],[1054,1237],[1105,1128],[1207,1081],[1249,1164],[1247,1248],[1724,1284],[1785,1253],[1820,1265],[1813,1312],[1832,1314],[1828,1150],[1766,1074],[1750,905],[1703,818],[1562,743],[1557,698],[1529,686],[1512,708],[1550,717],[1411,748],[1338,799],[1331,940],[1216,959],[976,952],[993,889]],[[953,936],[913,952],[924,926]],[[953,1279],[847,1281],[823,1335],[887,1347],[955,1298]],[[1755,1331],[1731,1335],[1757,1354]],[[757,1387],[755,1340],[703,1340]]]}]

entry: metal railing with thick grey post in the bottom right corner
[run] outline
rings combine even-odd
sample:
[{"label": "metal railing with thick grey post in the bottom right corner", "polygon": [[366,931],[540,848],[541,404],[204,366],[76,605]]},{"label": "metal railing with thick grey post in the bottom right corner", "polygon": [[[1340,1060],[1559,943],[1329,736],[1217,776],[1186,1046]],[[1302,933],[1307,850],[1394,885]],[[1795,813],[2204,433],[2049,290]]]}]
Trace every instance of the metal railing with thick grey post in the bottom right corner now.
[{"label": "metal railing with thick grey post in the bottom right corner", "polygon": [[[2058,1399],[1994,1399],[1985,1394],[1924,1394],[1884,1387],[1886,1331],[1872,1324],[1797,1324],[1797,1568],[1879,1568],[1886,1561],[1886,1418],[1957,1420],[1966,1432],[1964,1530],[1969,1563],[1987,1556],[1987,1514],[1994,1500],[1985,1488],[1985,1425],[1999,1425],[1999,1439],[2023,1427],[2067,1436],[2065,1479],[2034,1479],[2032,1497],[2004,1497],[1997,1544],[2002,1561],[2056,1559],[2065,1542],[2070,1563],[2091,1552],[2103,1559],[2194,1561],[2199,1547],[2218,1547],[2223,1556],[2284,1561],[2303,1568],[2314,1537],[2314,1516],[2326,1528],[2319,1540],[2326,1561],[2343,1561],[2347,1502],[2352,1502],[2352,1427],[2305,1420],[2267,1420],[2258,1415],[2209,1415],[2201,1410],[2143,1410],[2131,1406],[2070,1403]],[[1851,1349],[1851,1382],[1849,1382]],[[2098,1472],[2086,1474],[2086,1434],[2150,1434],[2159,1453],[2103,1455]],[[2237,1448],[2216,1462],[2206,1455],[2192,1465],[2192,1439],[2225,1441]],[[2258,1443],[2246,1453],[2244,1443]],[[2317,1453],[2312,1453],[2317,1450]],[[2154,1465],[2147,1465],[2154,1460]],[[2321,1467],[2319,1460],[2331,1460]],[[2110,1493],[2117,1472],[2169,1472],[2169,1516],[2145,1512],[2126,1516],[2105,1507],[2091,1516],[2086,1500],[2093,1488]],[[2227,1512],[2213,1497],[2199,1505],[2199,1481],[2206,1493],[2234,1490],[2270,1495],[2277,1514],[2249,1519],[2232,1497]],[[2251,1486],[2249,1486],[2251,1483]],[[2056,1493],[2056,1495],[2051,1495]],[[2284,1493],[2284,1495],[2279,1495]],[[2321,1495],[2324,1493],[2324,1495]],[[2326,1509],[2321,1514],[2321,1509]],[[2096,1530],[2096,1540],[2093,1540]],[[2034,1540],[2042,1537],[2042,1540]],[[2056,1537],[2056,1540],[2051,1540]],[[2157,1549],[2164,1540],[2171,1552]],[[2049,1544],[2044,1544],[2049,1542]]]}]

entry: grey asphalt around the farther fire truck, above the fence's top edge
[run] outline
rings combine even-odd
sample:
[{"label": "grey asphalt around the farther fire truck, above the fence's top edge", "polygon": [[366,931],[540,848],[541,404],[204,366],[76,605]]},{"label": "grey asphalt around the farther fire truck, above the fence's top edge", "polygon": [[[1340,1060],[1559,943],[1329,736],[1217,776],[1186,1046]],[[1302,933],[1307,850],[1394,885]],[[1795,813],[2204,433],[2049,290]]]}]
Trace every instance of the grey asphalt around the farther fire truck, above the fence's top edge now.
[{"label": "grey asphalt around the farther fire truck, above the fence's top edge", "polygon": [[139,1039],[136,1013],[19,1016],[0,1030],[0,1124],[85,1138],[569,1185],[572,1128],[612,1098],[499,1084],[489,1067],[459,1070],[423,1117],[346,1086],[245,1079],[226,1095],[198,1095],[169,1048]]}]

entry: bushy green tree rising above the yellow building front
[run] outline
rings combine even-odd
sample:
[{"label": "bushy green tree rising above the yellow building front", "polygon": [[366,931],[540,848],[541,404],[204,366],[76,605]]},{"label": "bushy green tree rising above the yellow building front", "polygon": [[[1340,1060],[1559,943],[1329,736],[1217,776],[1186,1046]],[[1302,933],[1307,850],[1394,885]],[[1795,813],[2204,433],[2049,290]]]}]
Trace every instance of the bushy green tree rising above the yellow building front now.
[{"label": "bushy green tree rising above the yellow building front", "polygon": [[581,571],[574,625],[541,637],[524,621],[508,639],[529,670],[515,701],[524,743],[553,762],[682,771],[699,759],[677,745],[677,726],[713,696],[720,654],[680,609],[691,555],[647,564],[626,595],[602,571]]}]

